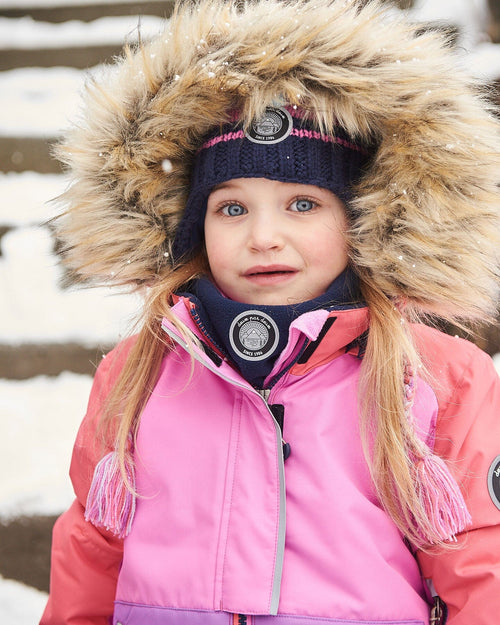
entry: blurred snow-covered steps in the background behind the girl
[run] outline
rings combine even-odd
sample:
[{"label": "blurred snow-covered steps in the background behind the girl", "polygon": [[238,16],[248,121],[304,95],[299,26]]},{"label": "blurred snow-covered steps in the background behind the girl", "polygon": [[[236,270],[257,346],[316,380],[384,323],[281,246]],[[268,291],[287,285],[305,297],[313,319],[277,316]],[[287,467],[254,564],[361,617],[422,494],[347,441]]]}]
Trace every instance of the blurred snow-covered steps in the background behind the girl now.
[{"label": "blurred snow-covered steps in the background behind the girl", "polygon": [[[189,1],[189,0],[187,0]],[[500,0],[400,0],[500,93]],[[48,220],[66,178],[50,145],[89,74],[162,29],[169,0],[0,0],[0,623],[37,623],[50,532],[72,500],[73,440],[92,375],[127,331],[137,296],[60,287]],[[456,333],[456,329],[447,328]],[[498,324],[469,337],[495,357]]]}]

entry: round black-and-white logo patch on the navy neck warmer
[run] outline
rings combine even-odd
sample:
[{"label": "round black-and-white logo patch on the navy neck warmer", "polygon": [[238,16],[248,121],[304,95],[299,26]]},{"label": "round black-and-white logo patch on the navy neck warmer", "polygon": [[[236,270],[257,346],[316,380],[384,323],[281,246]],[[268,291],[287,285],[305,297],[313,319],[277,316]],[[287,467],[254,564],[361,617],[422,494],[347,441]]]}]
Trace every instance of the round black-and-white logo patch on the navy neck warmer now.
[{"label": "round black-and-white logo patch on the navy neck warmer", "polygon": [[279,341],[276,322],[258,310],[247,310],[233,320],[229,341],[244,360],[264,360],[274,353]]}]

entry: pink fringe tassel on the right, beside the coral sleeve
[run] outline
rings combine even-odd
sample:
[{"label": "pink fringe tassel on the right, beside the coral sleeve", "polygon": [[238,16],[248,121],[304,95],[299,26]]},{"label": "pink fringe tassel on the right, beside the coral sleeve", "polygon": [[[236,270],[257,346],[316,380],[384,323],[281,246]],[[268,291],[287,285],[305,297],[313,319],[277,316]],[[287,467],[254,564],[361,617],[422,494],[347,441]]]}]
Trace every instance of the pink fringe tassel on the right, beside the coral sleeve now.
[{"label": "pink fringe tassel on the right, beside the coral sleeve", "polygon": [[419,496],[430,524],[440,540],[456,540],[456,534],[472,523],[460,488],[445,462],[429,453],[417,461]]}]

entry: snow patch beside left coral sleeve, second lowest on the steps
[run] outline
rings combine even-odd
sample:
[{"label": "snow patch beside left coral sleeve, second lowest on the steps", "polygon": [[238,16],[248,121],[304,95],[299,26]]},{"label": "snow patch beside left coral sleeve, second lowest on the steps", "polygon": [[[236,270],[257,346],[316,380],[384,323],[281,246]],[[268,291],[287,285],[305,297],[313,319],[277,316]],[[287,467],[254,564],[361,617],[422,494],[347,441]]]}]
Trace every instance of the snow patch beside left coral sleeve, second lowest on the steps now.
[{"label": "snow patch beside left coral sleeve, second lowest on the steps", "polygon": [[60,514],[74,498],[71,449],[92,384],[88,375],[0,380],[0,518]]}]

